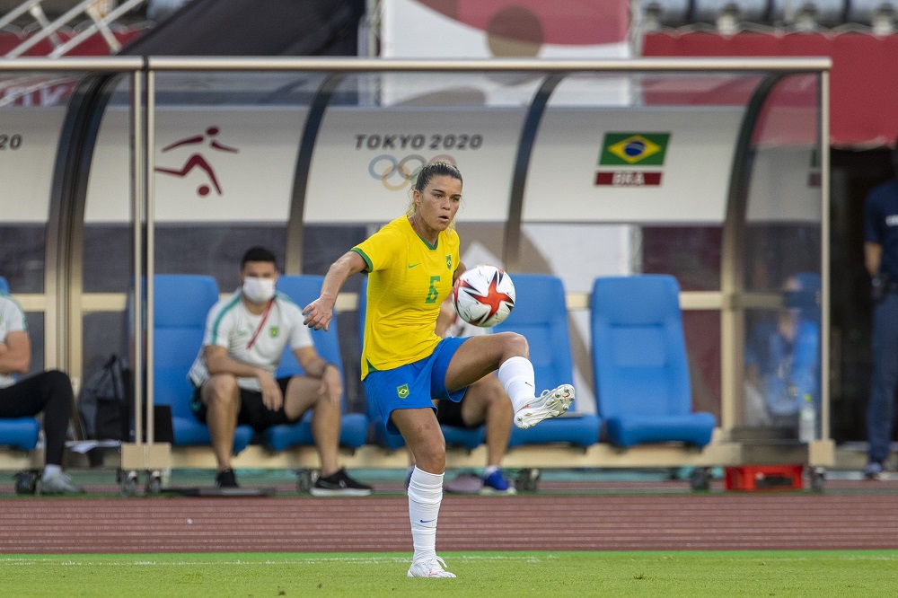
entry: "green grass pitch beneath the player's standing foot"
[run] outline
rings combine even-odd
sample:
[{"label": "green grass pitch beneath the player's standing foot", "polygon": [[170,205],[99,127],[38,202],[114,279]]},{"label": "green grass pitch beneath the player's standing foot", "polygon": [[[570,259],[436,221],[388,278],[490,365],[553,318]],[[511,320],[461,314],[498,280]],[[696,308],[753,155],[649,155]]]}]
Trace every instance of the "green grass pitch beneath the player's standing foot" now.
[{"label": "green grass pitch beneath the player's standing foot", "polygon": [[445,552],[456,579],[405,576],[409,554],[0,555],[6,596],[898,595],[898,550]]}]

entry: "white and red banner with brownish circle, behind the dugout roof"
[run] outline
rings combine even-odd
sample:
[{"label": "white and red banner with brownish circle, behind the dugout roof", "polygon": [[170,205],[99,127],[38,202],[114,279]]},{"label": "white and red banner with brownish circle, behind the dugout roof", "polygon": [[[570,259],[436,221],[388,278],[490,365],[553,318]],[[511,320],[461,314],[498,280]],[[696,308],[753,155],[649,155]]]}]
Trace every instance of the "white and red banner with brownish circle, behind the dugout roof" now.
[{"label": "white and red banner with brownish circle, behind the dugout roof", "polygon": [[[390,58],[628,58],[629,0],[383,0],[381,56]],[[533,100],[544,75],[466,73],[427,81],[427,93],[477,94],[487,105]],[[611,76],[604,89],[577,95],[591,105],[627,101],[629,83]],[[581,91],[569,79],[553,94],[565,101]],[[422,92],[385,77],[384,104],[415,101]]]}]

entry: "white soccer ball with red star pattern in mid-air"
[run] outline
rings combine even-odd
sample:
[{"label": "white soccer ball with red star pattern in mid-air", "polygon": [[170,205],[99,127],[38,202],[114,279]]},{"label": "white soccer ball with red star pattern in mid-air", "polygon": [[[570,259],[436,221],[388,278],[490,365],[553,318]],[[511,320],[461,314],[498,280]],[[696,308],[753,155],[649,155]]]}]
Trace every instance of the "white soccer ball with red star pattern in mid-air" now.
[{"label": "white soccer ball with red star pattern in mid-air", "polygon": [[452,300],[463,321],[489,328],[505,320],[515,307],[515,283],[502,268],[475,266],[458,278]]}]

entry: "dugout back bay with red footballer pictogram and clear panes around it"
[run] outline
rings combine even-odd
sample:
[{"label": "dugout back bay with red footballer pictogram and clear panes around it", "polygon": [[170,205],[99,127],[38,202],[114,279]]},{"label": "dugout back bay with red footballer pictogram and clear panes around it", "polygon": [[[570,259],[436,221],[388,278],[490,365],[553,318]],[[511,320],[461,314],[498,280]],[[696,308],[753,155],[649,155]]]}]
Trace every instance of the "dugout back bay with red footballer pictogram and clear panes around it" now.
[{"label": "dugout back bay with red footballer pictogram and clear panes around it", "polygon": [[300,139],[324,78],[155,75],[157,273],[212,275],[227,292],[249,247],[284,258]]}]

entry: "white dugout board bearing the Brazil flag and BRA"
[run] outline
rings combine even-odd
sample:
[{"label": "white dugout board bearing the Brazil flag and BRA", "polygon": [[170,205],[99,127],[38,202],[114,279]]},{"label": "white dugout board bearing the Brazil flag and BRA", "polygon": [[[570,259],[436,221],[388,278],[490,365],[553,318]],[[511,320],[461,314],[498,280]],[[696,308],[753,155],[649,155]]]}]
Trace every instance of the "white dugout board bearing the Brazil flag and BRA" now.
[{"label": "white dugout board bearing the Brazil flag and BRA", "polygon": [[721,223],[743,110],[547,110],[524,220]]}]

